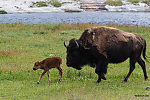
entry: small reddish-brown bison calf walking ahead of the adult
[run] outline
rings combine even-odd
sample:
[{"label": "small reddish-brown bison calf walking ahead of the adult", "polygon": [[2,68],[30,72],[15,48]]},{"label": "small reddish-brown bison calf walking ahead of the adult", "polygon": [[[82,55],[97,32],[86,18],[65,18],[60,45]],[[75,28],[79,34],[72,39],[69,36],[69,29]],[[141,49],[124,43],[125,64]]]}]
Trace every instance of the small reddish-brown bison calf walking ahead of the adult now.
[{"label": "small reddish-brown bison calf walking ahead of the adult", "polygon": [[37,69],[43,69],[43,73],[40,75],[40,78],[37,82],[37,84],[40,83],[40,80],[42,76],[47,72],[48,75],[48,81],[50,82],[50,72],[49,69],[51,68],[57,68],[59,70],[59,81],[62,81],[62,69],[60,67],[60,64],[62,64],[62,59],[60,57],[49,57],[42,61],[37,61],[34,64],[33,70]]}]

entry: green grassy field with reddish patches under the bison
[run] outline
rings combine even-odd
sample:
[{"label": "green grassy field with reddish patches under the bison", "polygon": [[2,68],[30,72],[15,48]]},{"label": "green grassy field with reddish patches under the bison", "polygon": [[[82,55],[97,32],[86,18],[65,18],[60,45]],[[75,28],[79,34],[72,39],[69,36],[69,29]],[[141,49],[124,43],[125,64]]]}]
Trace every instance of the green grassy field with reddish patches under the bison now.
[{"label": "green grassy field with reddish patches under the bison", "polygon": [[[78,71],[66,66],[63,42],[79,38],[84,29],[94,26],[98,25],[0,24],[0,100],[150,99],[150,90],[145,90],[150,82],[144,80],[138,64],[128,82],[121,83],[129,71],[128,60],[121,64],[109,64],[107,80],[99,84],[94,83],[97,80],[94,68],[85,66]],[[150,27],[107,26],[143,36],[147,41],[147,55],[150,55]],[[33,71],[33,64],[51,54],[63,58],[63,81],[58,81],[58,70],[52,69],[51,83],[48,83],[45,74],[41,83],[37,84],[42,70]],[[150,76],[150,63],[146,66]]]}]

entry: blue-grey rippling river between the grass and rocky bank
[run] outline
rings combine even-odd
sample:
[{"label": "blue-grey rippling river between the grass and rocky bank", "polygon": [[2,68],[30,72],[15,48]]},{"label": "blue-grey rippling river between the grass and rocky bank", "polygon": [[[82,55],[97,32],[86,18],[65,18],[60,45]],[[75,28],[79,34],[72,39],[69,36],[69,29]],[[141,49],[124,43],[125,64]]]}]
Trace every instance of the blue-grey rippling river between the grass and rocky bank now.
[{"label": "blue-grey rippling river between the grass and rocky bank", "polygon": [[150,26],[150,12],[80,12],[0,14],[0,23],[92,23]]}]

